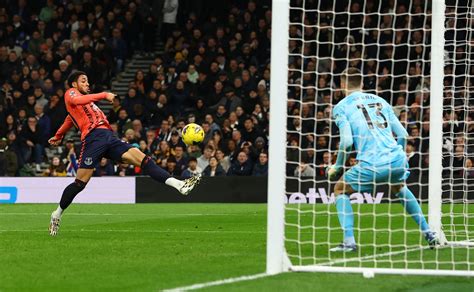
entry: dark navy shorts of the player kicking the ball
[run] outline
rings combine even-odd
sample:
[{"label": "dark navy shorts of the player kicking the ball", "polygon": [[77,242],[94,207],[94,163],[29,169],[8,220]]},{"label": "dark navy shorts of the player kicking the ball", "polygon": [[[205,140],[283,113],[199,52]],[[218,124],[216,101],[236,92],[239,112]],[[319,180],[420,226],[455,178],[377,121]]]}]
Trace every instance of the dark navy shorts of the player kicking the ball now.
[{"label": "dark navy shorts of the player kicking the ball", "polygon": [[120,162],[132,147],[108,129],[94,129],[82,141],[79,168],[95,168],[102,157]]}]

